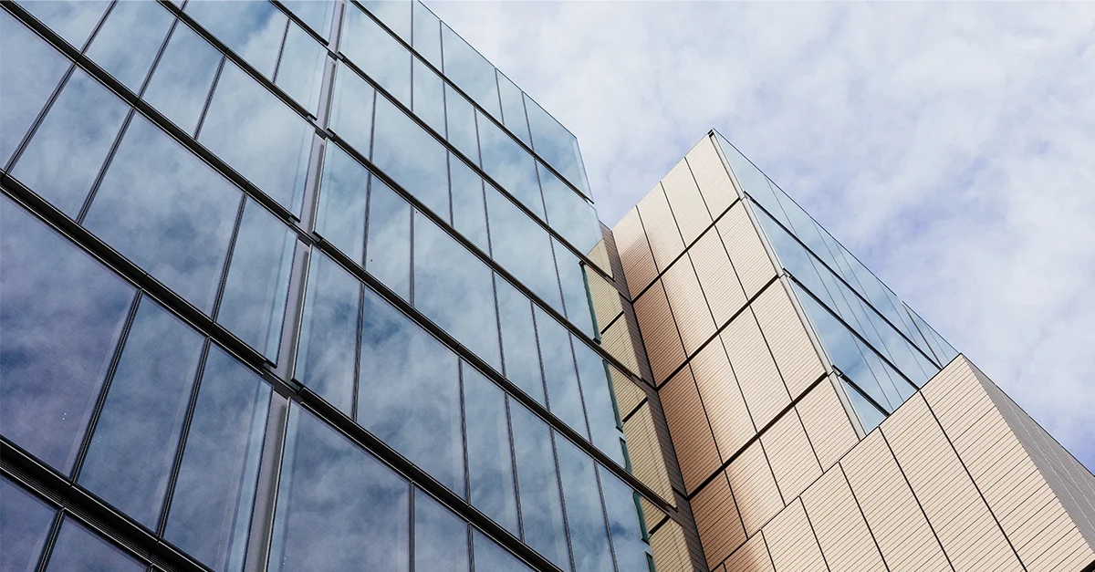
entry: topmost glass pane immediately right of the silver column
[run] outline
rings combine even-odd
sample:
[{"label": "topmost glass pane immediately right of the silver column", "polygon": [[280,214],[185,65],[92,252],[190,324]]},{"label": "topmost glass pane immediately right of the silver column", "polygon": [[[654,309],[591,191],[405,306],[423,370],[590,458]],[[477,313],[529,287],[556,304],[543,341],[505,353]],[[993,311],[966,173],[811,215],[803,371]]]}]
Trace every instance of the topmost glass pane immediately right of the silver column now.
[{"label": "topmost glass pane immediately right of the silver column", "polygon": [[[410,107],[411,52],[357,7],[346,8],[342,53],[384,91]],[[410,10],[410,4],[406,8]]]}]

